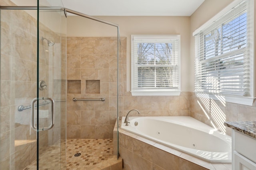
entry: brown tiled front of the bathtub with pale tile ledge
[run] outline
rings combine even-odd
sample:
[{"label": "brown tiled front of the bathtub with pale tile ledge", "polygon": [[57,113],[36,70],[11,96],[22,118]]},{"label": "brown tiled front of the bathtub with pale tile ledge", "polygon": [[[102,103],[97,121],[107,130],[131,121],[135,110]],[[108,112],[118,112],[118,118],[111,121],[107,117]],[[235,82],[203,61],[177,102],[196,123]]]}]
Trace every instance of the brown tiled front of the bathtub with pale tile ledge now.
[{"label": "brown tiled front of the bathtub with pale tile ledge", "polygon": [[[119,121],[120,122],[120,121]],[[125,170],[231,170],[119,129],[119,150]]]}]

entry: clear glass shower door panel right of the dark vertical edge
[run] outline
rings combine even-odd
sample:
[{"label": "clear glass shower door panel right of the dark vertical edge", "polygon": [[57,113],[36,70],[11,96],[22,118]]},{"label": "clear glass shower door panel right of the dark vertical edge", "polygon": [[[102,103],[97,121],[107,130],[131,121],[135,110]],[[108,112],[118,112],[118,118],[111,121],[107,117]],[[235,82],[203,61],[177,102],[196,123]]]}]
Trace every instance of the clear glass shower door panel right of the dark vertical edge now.
[{"label": "clear glass shower door panel right of the dark vertical edge", "polygon": [[38,136],[39,169],[64,169],[66,165],[65,22],[60,8],[39,8],[38,98],[34,100],[39,107],[32,114]]}]

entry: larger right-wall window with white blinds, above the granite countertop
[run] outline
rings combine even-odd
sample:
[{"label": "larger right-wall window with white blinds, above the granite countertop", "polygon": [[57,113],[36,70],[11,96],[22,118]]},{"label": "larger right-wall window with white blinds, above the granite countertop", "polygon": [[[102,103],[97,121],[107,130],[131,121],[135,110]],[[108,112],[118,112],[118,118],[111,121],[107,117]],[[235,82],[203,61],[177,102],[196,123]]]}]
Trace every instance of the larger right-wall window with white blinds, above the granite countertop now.
[{"label": "larger right-wall window with white blinds, above the granite countertop", "polygon": [[247,7],[248,1],[240,1],[207,27],[194,33],[196,92],[254,96],[253,20]]}]

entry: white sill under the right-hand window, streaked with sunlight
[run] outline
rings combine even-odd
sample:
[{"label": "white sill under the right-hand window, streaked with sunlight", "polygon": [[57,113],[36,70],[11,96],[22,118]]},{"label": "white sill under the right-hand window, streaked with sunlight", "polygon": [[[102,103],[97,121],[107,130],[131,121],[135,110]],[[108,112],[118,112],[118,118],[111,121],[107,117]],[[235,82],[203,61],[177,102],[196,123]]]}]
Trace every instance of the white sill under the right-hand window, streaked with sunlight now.
[{"label": "white sill under the right-hand window, streaked with sunlight", "polygon": [[212,100],[219,100],[220,102],[230,102],[235,104],[243,104],[252,106],[254,97],[244,97],[244,96],[224,96],[217,94],[207,94],[194,92],[198,98],[207,98]]}]

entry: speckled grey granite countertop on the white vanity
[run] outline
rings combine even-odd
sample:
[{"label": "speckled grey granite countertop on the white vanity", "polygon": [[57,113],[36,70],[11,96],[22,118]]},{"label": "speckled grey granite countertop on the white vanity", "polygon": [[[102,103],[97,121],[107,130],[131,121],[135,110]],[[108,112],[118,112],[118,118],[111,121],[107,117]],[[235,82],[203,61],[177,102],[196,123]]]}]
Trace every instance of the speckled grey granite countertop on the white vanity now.
[{"label": "speckled grey granite countertop on the white vanity", "polygon": [[256,139],[256,121],[225,121],[224,125]]}]

